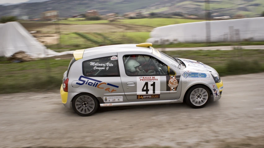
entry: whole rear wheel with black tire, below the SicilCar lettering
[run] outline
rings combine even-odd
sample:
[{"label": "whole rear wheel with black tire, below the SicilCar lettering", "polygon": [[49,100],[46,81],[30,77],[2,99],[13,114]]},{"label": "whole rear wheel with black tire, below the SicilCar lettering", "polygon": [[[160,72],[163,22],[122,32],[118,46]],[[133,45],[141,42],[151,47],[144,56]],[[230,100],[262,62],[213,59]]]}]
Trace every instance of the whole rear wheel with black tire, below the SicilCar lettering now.
[{"label": "whole rear wheel with black tire, below the SicilCar lettering", "polygon": [[73,98],[72,107],[74,112],[80,116],[91,116],[97,111],[99,102],[95,96],[81,93]]}]

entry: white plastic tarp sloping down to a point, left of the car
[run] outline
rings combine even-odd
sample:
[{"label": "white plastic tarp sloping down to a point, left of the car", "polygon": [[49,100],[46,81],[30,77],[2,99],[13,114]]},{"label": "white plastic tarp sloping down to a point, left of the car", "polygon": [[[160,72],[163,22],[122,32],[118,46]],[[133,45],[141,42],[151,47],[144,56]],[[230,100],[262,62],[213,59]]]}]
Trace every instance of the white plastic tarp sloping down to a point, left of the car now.
[{"label": "white plastic tarp sloping down to a point, left of the car", "polygon": [[0,24],[0,56],[11,57],[19,51],[33,58],[66,54],[47,49],[18,22]]}]

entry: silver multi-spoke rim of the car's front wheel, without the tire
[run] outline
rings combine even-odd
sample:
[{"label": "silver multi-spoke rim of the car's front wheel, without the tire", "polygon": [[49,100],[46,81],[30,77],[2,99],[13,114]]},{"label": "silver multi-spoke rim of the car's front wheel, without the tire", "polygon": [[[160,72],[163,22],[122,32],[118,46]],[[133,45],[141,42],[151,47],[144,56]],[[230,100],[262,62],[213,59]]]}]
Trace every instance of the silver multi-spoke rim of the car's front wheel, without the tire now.
[{"label": "silver multi-spoke rim of the car's front wheel, without the tire", "polygon": [[208,93],[203,88],[196,88],[191,92],[190,99],[193,105],[201,106],[208,100]]}]

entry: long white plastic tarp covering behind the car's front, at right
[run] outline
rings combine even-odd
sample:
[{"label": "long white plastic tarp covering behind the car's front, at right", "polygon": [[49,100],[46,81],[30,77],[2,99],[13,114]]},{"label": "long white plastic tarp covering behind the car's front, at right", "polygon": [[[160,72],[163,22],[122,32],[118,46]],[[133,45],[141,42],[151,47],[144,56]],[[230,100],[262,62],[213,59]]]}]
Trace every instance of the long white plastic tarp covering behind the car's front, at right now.
[{"label": "long white plastic tarp covering behind the car's front, at right", "polygon": [[[154,28],[147,42],[170,44],[206,41],[263,41],[263,24],[264,17],[168,25]],[[207,27],[209,31],[206,31]]]}]

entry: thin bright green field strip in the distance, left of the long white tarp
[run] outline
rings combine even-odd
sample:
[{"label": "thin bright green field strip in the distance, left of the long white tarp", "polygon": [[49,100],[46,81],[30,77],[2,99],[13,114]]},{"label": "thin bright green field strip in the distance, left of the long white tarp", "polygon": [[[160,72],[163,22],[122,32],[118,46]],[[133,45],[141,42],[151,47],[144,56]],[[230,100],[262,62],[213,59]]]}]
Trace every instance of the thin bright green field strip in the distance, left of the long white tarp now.
[{"label": "thin bright green field strip in the distance, left of the long white tarp", "polygon": [[156,19],[123,19],[119,20],[121,23],[128,23],[134,25],[143,25],[143,26],[151,26],[151,27],[160,27],[172,24],[179,23],[192,23],[192,22],[202,22],[205,20],[195,20],[195,19],[178,19],[178,18],[156,18]]}]

